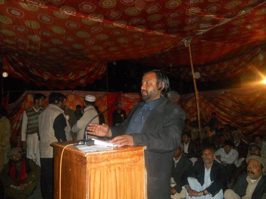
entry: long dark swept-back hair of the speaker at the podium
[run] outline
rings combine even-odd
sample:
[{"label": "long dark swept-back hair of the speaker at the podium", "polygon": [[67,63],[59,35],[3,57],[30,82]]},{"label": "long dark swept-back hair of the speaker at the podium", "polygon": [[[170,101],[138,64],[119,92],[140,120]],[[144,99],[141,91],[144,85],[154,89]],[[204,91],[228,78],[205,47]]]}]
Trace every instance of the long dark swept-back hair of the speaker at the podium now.
[{"label": "long dark swept-back hair of the speaker at the podium", "polygon": [[156,74],[157,85],[161,83],[161,87],[159,88],[159,90],[161,90],[162,95],[168,98],[170,96],[170,84],[166,73],[162,70],[157,69],[146,72],[144,75],[146,75],[147,73]]}]

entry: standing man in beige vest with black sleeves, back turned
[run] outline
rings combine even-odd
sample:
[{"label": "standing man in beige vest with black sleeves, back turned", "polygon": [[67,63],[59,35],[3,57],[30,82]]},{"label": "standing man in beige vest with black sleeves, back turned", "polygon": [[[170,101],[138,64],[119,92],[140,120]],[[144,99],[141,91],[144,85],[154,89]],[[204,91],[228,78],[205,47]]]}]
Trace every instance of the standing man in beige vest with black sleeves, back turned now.
[{"label": "standing man in beige vest with black sleeves, back turned", "polygon": [[67,139],[71,140],[70,127],[63,110],[65,103],[65,95],[51,93],[49,95],[49,106],[43,110],[38,119],[43,199],[54,198],[54,148],[50,144],[67,141]]}]

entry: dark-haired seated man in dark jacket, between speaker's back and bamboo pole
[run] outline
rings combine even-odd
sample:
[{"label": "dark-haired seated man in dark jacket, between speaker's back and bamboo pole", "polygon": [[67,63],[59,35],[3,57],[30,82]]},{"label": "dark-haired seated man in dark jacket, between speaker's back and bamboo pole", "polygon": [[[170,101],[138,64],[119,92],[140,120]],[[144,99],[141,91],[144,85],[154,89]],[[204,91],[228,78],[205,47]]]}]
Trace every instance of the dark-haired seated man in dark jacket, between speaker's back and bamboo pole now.
[{"label": "dark-haired seated man in dark jacket, between speaker's back and bamboo pole", "polygon": [[187,156],[194,164],[199,157],[197,143],[192,140],[190,132],[182,133],[182,142],[184,144],[183,155]]}]

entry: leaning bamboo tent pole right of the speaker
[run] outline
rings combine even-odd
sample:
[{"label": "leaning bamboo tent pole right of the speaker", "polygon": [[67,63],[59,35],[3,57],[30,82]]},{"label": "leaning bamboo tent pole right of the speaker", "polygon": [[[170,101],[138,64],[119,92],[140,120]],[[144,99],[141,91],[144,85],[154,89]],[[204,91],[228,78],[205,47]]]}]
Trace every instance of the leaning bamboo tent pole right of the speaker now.
[{"label": "leaning bamboo tent pole right of the speaker", "polygon": [[190,65],[191,65],[191,70],[192,70],[192,77],[193,77],[194,89],[195,89],[195,97],[196,97],[197,118],[198,118],[198,134],[199,134],[199,139],[200,139],[200,145],[201,145],[201,148],[202,148],[200,110],[199,110],[199,93],[198,93],[198,90],[197,90],[196,79],[195,79],[195,75],[194,75],[194,68],[193,68],[191,48],[190,48],[190,40],[191,39],[188,40],[188,50],[189,50]]}]

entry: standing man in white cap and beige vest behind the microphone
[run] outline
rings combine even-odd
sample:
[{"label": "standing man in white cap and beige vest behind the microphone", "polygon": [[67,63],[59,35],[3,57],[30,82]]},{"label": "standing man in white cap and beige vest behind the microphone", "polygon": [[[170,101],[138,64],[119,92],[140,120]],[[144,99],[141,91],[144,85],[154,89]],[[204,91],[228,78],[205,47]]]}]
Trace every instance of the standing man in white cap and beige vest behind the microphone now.
[{"label": "standing man in white cap and beige vest behind the microphone", "polygon": [[[95,96],[86,95],[84,99],[84,113],[83,116],[77,121],[77,123],[72,127],[73,133],[77,133],[77,140],[84,139],[84,131],[87,124],[90,120],[97,115],[97,111],[95,110]],[[91,123],[99,124],[99,117],[96,117],[92,120]],[[97,138],[95,136],[88,135],[88,138]]]}]

